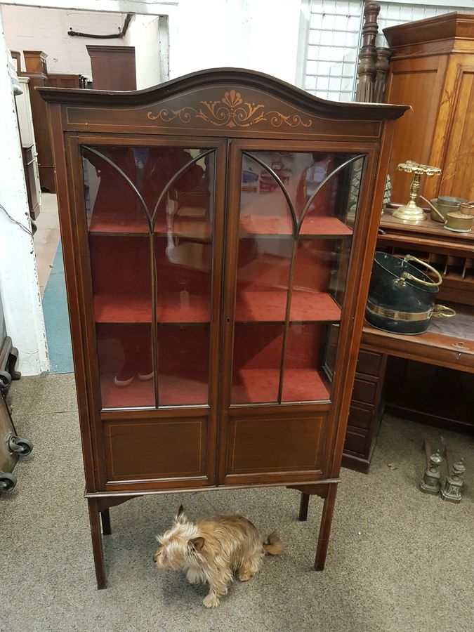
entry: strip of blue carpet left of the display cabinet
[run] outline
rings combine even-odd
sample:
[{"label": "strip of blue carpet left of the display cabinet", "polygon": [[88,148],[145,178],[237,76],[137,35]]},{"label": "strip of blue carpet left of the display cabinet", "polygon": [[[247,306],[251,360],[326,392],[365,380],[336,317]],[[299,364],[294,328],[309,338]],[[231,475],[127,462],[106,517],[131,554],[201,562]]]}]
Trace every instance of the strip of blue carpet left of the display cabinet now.
[{"label": "strip of blue carpet left of the display cabinet", "polygon": [[74,366],[72,364],[71,334],[67,315],[61,242],[58,244],[53,268],[51,268],[44,290],[43,313],[51,373],[72,373]]}]

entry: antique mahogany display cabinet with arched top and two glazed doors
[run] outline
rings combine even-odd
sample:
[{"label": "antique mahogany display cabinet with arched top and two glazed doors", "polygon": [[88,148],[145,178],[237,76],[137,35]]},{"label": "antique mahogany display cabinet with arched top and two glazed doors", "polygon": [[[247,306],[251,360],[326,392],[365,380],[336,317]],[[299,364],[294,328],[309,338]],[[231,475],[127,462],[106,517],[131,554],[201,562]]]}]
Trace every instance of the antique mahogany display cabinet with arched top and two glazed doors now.
[{"label": "antique mahogany display cabinet with arched top and two glazed doors", "polygon": [[204,70],[41,89],[51,117],[93,553],[169,491],[324,498],[322,570],[398,105]]}]

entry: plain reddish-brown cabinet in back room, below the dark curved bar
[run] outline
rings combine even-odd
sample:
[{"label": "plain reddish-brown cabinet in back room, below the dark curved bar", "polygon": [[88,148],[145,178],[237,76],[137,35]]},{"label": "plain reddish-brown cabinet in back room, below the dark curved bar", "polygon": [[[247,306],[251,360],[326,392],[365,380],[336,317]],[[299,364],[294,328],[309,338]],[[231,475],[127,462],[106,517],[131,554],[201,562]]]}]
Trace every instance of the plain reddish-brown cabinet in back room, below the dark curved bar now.
[{"label": "plain reddish-brown cabinet in back room, below the dark curved bar", "polygon": [[94,90],[136,90],[133,46],[86,46]]}]

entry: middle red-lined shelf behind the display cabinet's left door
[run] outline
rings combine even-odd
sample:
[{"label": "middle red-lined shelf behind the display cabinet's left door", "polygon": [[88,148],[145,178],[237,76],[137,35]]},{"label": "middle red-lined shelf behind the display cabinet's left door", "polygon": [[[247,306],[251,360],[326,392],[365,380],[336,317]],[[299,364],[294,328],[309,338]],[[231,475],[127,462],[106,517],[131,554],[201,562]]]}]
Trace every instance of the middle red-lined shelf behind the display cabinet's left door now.
[{"label": "middle red-lined shelf behind the display cabinet's left door", "polygon": [[[96,322],[151,322],[152,304],[141,296],[99,294],[94,298]],[[189,295],[187,305],[180,304],[179,294],[158,298],[157,322],[209,323],[210,299]]]}]

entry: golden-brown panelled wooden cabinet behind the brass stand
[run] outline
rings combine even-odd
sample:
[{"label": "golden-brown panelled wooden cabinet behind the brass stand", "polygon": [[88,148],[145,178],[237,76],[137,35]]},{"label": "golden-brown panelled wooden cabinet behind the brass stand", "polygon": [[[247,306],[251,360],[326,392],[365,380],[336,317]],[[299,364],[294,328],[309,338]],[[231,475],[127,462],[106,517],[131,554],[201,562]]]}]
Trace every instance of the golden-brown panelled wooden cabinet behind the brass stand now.
[{"label": "golden-brown panelled wooden cabinet behind the brass stand", "polygon": [[428,199],[474,199],[474,13],[445,13],[383,34],[392,51],[386,103],[413,108],[395,128],[392,202],[407,202],[411,180],[396,171],[407,159],[442,169],[439,178],[421,180]]}]

